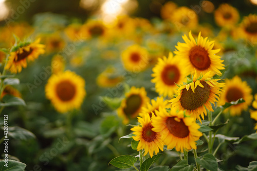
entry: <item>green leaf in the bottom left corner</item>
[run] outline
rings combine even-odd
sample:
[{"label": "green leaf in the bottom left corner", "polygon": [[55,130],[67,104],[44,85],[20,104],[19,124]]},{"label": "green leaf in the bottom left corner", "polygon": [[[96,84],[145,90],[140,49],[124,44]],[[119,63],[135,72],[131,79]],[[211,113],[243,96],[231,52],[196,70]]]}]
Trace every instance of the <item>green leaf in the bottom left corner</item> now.
[{"label": "green leaf in the bottom left corner", "polygon": [[8,167],[5,166],[5,161],[0,161],[0,171],[8,170],[8,171],[23,171],[25,170],[26,164],[15,161],[15,160],[8,160]]}]

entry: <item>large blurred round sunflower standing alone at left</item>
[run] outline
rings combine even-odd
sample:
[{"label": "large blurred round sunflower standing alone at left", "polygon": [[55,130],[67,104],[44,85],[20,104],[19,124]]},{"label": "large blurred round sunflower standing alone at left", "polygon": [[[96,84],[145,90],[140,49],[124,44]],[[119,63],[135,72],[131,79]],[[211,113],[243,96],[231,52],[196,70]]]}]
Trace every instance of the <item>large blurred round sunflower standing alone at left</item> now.
[{"label": "large blurred round sunflower standing alone at left", "polygon": [[60,113],[79,109],[86,95],[85,80],[74,72],[52,75],[45,87],[46,97]]}]

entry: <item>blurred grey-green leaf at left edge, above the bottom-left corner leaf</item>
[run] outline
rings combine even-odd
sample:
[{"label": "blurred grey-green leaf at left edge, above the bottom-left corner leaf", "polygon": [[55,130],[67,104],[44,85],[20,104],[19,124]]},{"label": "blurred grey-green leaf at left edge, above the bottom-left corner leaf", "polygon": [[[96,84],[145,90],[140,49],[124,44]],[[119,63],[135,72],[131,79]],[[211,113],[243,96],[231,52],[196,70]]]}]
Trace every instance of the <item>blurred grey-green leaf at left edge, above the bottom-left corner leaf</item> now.
[{"label": "blurred grey-green leaf at left edge, above the bottom-left corner leaf", "polygon": [[28,130],[23,129],[19,126],[9,126],[8,127],[8,136],[14,139],[27,140],[35,138],[35,135]]}]

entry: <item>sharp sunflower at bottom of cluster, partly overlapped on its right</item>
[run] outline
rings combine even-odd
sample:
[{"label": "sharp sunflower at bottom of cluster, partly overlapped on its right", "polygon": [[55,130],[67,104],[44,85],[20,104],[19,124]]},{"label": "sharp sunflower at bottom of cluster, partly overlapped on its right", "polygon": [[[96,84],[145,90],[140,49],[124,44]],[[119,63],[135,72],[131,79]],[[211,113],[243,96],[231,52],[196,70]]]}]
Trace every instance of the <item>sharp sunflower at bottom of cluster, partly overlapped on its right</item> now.
[{"label": "sharp sunflower at bottom of cluster, partly overlapped on its right", "polygon": [[134,126],[131,131],[135,131],[133,134],[133,139],[139,141],[137,145],[137,151],[144,149],[144,156],[150,154],[150,157],[153,157],[153,154],[159,153],[159,148],[163,151],[163,142],[161,141],[161,134],[154,132],[152,119],[148,114],[144,114],[143,118],[138,117],[139,126]]}]

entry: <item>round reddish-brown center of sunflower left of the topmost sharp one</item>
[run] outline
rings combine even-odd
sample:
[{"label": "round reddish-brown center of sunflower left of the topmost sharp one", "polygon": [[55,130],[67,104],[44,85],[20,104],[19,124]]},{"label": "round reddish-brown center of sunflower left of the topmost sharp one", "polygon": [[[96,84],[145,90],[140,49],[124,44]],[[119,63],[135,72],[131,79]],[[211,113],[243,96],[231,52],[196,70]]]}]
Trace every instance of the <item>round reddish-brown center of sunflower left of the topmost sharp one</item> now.
[{"label": "round reddish-brown center of sunflower left of the topmost sharp one", "polygon": [[176,66],[169,65],[164,67],[161,72],[161,79],[165,84],[174,85],[180,76],[179,70]]}]

